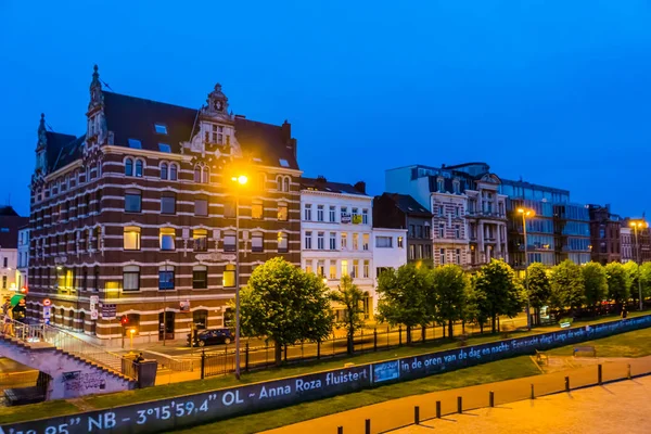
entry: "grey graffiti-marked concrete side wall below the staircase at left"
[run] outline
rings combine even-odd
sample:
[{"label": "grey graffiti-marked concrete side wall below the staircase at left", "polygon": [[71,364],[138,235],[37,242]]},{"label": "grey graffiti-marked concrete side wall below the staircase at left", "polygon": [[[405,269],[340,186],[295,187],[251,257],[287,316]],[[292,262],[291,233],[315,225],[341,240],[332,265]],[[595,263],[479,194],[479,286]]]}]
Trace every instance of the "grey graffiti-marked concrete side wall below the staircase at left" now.
[{"label": "grey graffiti-marked concrete side wall below the staircase at left", "polygon": [[76,359],[44,343],[27,347],[15,341],[0,339],[0,356],[50,375],[52,380],[46,394],[48,400],[135,388],[133,382]]}]

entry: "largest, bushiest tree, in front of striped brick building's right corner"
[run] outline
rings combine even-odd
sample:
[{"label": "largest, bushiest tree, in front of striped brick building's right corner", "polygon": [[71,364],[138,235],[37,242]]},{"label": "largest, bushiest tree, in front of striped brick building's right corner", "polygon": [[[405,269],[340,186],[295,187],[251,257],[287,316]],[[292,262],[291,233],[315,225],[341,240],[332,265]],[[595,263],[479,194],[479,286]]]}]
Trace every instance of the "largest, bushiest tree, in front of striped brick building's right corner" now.
[{"label": "largest, bushiest tree, in front of striped brick building's right corner", "polygon": [[253,271],[241,290],[240,309],[243,333],[275,342],[277,365],[283,346],[321,341],[332,331],[330,297],[321,278],[281,257]]}]

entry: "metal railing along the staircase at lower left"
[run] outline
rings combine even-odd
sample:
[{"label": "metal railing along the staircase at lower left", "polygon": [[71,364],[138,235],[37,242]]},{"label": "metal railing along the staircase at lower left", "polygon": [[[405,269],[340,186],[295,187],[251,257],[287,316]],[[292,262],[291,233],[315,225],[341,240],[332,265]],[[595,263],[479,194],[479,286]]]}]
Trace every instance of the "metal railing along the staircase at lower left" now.
[{"label": "metal railing along the staircase at lower left", "polygon": [[123,356],[107,352],[99,345],[86,342],[59,328],[44,323],[27,324],[10,319],[9,335],[26,344],[35,344],[38,342],[51,344],[56,347],[56,349],[77,356],[88,362],[97,363],[133,378],[133,375],[124,372]]}]

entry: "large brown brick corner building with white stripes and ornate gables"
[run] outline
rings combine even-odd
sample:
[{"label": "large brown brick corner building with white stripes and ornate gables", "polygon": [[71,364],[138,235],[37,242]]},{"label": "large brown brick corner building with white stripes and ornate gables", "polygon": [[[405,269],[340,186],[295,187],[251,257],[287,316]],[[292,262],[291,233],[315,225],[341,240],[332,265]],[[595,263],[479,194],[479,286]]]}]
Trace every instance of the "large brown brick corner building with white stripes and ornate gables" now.
[{"label": "large brown brick corner building with white stripes and ornate gables", "polygon": [[[101,341],[183,337],[219,327],[265,260],[301,264],[291,125],[107,92],[95,66],[81,136],[41,116],[31,181],[28,307]],[[240,268],[237,280],[235,263]]]}]

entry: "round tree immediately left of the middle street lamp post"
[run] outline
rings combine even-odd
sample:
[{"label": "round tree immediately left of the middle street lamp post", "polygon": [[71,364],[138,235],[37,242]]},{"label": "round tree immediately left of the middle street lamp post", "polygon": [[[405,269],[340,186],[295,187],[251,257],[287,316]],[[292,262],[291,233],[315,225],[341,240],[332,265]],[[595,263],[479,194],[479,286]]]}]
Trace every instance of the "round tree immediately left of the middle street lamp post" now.
[{"label": "round tree immediately left of the middle street lamp post", "polygon": [[510,318],[518,315],[521,307],[519,285],[511,267],[503,260],[492,259],[473,278],[474,298],[480,317],[490,318],[493,333],[497,331],[497,317]]}]

